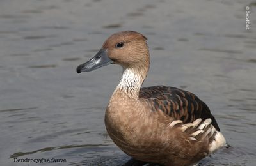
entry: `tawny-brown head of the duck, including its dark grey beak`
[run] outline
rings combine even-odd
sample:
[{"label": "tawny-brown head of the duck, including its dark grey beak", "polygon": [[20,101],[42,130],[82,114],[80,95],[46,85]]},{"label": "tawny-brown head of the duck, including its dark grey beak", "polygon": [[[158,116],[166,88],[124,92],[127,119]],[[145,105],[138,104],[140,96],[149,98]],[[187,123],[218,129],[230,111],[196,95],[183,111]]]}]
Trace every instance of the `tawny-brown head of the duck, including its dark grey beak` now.
[{"label": "tawny-brown head of the duck, including its dark grey beak", "polygon": [[90,61],[77,66],[77,73],[90,72],[108,64],[120,64],[123,68],[149,66],[147,38],[135,31],[112,34]]}]

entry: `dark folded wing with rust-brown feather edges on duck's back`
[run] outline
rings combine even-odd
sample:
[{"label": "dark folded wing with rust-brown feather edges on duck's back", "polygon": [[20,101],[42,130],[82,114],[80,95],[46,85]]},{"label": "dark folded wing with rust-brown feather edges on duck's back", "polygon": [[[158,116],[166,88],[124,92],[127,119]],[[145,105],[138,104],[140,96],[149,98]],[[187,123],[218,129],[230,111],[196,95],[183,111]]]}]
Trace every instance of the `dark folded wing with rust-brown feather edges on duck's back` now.
[{"label": "dark folded wing with rust-brown feather edges on duck's back", "polygon": [[220,131],[209,107],[193,93],[176,87],[152,86],[141,88],[140,98],[150,100],[153,109],[161,110],[183,123],[192,123],[198,118],[203,121],[211,118],[212,125]]}]

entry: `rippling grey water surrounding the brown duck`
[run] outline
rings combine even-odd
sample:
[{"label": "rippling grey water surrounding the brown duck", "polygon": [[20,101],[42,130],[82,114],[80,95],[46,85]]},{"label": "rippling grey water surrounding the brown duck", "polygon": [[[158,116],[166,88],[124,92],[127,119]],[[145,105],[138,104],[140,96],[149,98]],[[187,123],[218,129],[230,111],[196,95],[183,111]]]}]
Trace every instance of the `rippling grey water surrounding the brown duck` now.
[{"label": "rippling grey water surrounding the brown duck", "polygon": [[129,160],[104,127],[104,109],[122,69],[76,73],[110,34],[127,29],[148,38],[151,68],[143,86],[164,84],[197,94],[232,146],[200,165],[256,165],[255,12],[256,2],[249,0],[0,1],[1,165]]}]

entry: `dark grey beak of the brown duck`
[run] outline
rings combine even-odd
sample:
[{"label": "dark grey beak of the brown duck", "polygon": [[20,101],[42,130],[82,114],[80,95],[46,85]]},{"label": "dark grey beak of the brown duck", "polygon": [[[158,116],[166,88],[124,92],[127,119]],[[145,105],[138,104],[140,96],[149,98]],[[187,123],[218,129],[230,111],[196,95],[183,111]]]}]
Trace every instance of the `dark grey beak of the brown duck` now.
[{"label": "dark grey beak of the brown duck", "polygon": [[113,61],[109,59],[107,50],[100,49],[100,51],[90,61],[77,66],[76,72],[90,72],[111,63],[113,63]]}]

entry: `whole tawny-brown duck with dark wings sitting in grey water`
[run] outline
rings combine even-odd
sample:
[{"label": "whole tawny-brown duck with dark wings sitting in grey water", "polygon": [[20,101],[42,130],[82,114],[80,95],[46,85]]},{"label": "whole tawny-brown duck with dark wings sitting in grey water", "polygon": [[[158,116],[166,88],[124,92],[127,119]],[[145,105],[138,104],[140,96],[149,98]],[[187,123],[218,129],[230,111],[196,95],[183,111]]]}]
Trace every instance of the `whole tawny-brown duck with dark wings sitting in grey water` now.
[{"label": "whole tawny-brown duck with dark wings sitting in grey water", "polygon": [[90,72],[108,64],[122,66],[123,72],[104,122],[109,137],[124,153],[142,162],[185,166],[227,146],[209,107],[195,94],[170,86],[141,88],[150,66],[143,34],[112,34],[76,70]]}]

